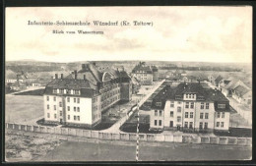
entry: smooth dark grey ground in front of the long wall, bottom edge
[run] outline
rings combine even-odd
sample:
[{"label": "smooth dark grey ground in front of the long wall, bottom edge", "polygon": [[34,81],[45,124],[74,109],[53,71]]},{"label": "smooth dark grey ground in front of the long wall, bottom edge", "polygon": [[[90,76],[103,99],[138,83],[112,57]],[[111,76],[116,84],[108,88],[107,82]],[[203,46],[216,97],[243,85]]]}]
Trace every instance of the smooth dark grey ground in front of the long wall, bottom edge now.
[{"label": "smooth dark grey ground in front of the long wall, bottom edge", "polygon": [[[251,147],[238,148],[224,145],[164,143],[153,145],[140,143],[141,161],[197,161],[241,160],[251,158]],[[234,148],[234,149],[233,149]],[[135,161],[136,141],[129,145],[90,142],[63,142],[38,161]]]}]

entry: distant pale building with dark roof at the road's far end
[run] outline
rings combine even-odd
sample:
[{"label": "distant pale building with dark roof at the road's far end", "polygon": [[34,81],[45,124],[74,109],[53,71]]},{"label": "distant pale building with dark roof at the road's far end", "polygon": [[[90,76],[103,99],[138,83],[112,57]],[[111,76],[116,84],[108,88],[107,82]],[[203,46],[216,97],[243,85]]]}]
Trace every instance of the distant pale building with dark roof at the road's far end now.
[{"label": "distant pale building with dark roof at the road's far end", "polygon": [[159,81],[159,71],[156,66],[146,66],[145,62],[140,62],[132,70],[132,76],[141,84],[150,85],[155,81]]}]

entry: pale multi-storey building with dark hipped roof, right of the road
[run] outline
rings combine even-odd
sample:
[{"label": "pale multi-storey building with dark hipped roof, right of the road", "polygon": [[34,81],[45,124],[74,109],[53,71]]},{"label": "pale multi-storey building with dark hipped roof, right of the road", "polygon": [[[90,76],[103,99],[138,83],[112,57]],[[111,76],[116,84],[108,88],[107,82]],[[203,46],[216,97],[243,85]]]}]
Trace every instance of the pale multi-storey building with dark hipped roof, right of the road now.
[{"label": "pale multi-storey building with dark hipped roof, right of the road", "polygon": [[152,130],[213,132],[229,128],[228,99],[200,83],[166,85],[154,97],[151,109]]}]

